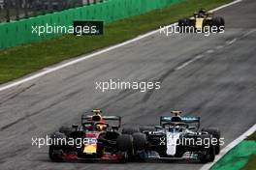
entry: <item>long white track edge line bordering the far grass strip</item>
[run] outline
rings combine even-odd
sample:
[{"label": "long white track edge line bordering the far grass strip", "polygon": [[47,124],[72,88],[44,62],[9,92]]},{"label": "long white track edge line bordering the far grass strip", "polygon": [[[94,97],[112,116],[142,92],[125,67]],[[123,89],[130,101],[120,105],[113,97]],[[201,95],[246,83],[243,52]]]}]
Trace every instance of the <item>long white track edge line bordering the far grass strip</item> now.
[{"label": "long white track edge line bordering the far grass strip", "polygon": [[[242,0],[236,0],[236,1],[232,2],[232,3],[225,4],[225,5],[221,6],[221,7],[218,7],[218,8],[216,8],[216,9],[212,10],[212,12],[215,12],[215,11],[218,11],[218,10],[220,10],[220,9],[223,9],[223,8],[226,8],[226,7],[229,7],[229,6],[232,6],[232,5],[237,4],[237,3],[241,2],[241,1],[242,1]],[[174,24],[171,24],[171,25],[169,25],[169,26],[173,26],[173,25],[174,25]],[[48,73],[50,73],[50,72],[58,71],[58,70],[60,70],[60,69],[66,68],[66,67],[68,67],[68,66],[75,65],[75,64],[77,64],[77,63],[80,63],[80,62],[83,61],[83,60],[87,60],[87,59],[89,59],[89,58],[92,58],[92,57],[94,57],[94,56],[97,56],[97,55],[103,54],[103,53],[105,53],[105,52],[111,51],[111,50],[113,50],[113,49],[116,49],[116,48],[118,48],[118,47],[124,46],[124,45],[126,45],[126,44],[129,44],[129,43],[132,43],[132,42],[140,41],[140,40],[142,40],[142,39],[144,39],[144,38],[146,38],[146,37],[149,37],[149,36],[151,36],[151,35],[154,35],[154,34],[158,33],[159,31],[160,31],[160,29],[157,29],[157,30],[148,32],[148,33],[146,33],[146,34],[144,34],[144,35],[142,35],[142,36],[139,36],[139,37],[137,37],[137,38],[135,38],[135,39],[132,39],[132,40],[130,40],[130,41],[121,42],[121,43],[115,44],[115,45],[113,45],[113,46],[111,46],[111,47],[102,49],[102,50],[100,50],[100,51],[98,51],[98,52],[94,52],[94,53],[89,54],[89,55],[82,56],[82,57],[80,57],[80,58],[78,58],[78,59],[75,59],[75,60],[70,61],[70,62],[68,62],[68,63],[65,63],[65,64],[63,64],[63,65],[57,66],[57,67],[52,68],[52,69],[50,69],[50,70],[44,70],[44,69],[43,69],[43,71],[41,71],[41,72],[39,72],[39,73],[36,73],[36,74],[34,74],[34,75],[31,75],[31,76],[28,76],[28,77],[25,77],[25,78],[22,78],[22,79],[19,79],[19,80],[15,80],[15,81],[13,81],[13,82],[10,82],[10,83],[7,83],[7,84],[4,84],[4,85],[0,86],[0,92],[1,92],[1,91],[4,91],[4,90],[7,90],[7,89],[10,89],[10,88],[12,88],[12,87],[18,86],[18,85],[20,85],[20,84],[23,84],[23,83],[25,83],[25,82],[31,81],[31,80],[33,80],[33,79],[39,78],[39,77],[41,77],[41,76],[43,76],[43,75],[46,75],[46,74],[48,74]]]}]

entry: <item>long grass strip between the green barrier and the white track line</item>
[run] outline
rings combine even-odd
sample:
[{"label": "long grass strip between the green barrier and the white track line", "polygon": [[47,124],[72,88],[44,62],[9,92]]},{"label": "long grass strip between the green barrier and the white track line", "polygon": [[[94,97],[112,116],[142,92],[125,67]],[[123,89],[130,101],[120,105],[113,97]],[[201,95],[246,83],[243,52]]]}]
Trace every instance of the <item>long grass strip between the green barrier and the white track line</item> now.
[{"label": "long grass strip between the green barrier and the white track line", "polygon": [[103,36],[65,35],[42,42],[19,45],[0,51],[0,84],[38,71],[66,59],[80,56],[118,42],[124,42],[191,15],[200,8],[213,9],[233,0],[184,0],[169,8],[151,11],[112,22]]}]

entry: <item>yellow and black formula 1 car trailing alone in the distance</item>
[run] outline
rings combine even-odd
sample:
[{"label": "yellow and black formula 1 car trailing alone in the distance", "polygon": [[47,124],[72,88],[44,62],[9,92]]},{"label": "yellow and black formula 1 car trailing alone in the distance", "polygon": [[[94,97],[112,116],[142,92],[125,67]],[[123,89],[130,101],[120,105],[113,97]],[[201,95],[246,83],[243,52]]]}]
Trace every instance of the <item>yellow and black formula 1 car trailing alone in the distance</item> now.
[{"label": "yellow and black formula 1 car trailing alone in the distance", "polygon": [[189,18],[179,19],[178,27],[180,32],[186,32],[187,30],[190,32],[191,30],[224,32],[225,20],[222,16],[215,16],[213,13],[201,9],[198,13],[194,13],[194,15]]}]

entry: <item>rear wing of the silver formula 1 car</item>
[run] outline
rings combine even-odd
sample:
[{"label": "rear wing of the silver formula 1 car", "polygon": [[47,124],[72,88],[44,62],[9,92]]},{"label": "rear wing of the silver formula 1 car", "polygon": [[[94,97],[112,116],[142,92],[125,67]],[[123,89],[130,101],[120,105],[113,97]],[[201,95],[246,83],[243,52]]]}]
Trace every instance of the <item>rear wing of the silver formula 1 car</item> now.
[{"label": "rear wing of the silver formula 1 car", "polygon": [[[160,126],[163,125],[163,123],[172,122],[172,118],[174,116],[161,116],[160,117]],[[182,116],[181,122],[185,124],[197,124],[197,129],[200,128],[200,117],[192,117],[192,116]]]}]

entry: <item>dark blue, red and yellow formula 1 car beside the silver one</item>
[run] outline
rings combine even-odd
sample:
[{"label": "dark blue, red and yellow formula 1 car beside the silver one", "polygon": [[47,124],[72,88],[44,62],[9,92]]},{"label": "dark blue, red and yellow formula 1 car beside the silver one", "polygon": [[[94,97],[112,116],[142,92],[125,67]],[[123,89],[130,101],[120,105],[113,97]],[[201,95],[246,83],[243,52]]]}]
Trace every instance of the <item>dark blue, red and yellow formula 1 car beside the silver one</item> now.
[{"label": "dark blue, red and yellow formula 1 car beside the silver one", "polygon": [[[81,125],[62,127],[51,135],[48,156],[52,161],[63,160],[117,160],[126,162],[133,150],[132,135],[118,132],[119,116],[82,115]],[[111,125],[115,123],[117,125]]]}]

